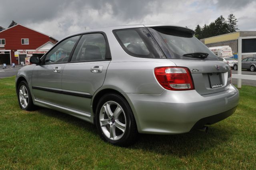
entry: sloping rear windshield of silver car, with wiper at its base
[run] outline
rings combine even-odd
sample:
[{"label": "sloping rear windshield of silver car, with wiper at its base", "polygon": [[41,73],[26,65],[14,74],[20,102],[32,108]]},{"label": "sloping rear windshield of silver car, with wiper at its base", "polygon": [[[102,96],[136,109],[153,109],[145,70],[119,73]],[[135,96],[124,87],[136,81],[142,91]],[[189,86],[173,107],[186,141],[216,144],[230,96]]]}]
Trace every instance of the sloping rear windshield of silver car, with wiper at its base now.
[{"label": "sloping rear windshield of silver car, with wiper at its base", "polygon": [[[172,30],[169,28],[148,28],[152,36],[158,42],[166,58],[190,59],[190,60],[219,60],[218,57],[192,33]],[[207,58],[192,58],[183,56],[190,53],[207,53]]]}]

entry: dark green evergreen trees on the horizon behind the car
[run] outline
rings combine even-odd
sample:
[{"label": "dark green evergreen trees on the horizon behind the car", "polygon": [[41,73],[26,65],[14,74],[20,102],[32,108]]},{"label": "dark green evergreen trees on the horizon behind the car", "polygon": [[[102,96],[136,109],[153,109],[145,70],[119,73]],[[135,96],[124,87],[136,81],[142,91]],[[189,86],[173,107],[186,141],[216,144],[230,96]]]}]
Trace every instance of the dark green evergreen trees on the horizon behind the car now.
[{"label": "dark green evergreen trees on the horizon behind the car", "polygon": [[221,15],[209,25],[204,24],[202,28],[200,25],[197,25],[195,36],[200,40],[202,38],[236,32],[238,30],[236,22],[238,21],[233,14],[229,14],[227,20]]}]

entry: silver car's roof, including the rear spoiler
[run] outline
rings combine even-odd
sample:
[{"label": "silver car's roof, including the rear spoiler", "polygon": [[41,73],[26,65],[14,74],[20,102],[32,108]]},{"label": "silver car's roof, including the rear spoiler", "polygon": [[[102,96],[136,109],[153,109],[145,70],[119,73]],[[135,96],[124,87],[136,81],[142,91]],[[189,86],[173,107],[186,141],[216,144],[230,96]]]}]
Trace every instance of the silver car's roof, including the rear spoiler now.
[{"label": "silver car's roof, including the rear spoiler", "polygon": [[141,28],[141,27],[165,27],[165,28],[173,28],[176,30],[181,30],[181,31],[186,31],[190,32],[191,34],[195,34],[194,30],[182,27],[182,26],[176,26],[176,25],[166,25],[166,24],[148,24],[148,25],[143,25],[143,24],[138,24],[138,25],[122,25],[122,26],[108,26],[108,27],[101,27],[101,28],[94,28],[94,29],[88,29],[88,30],[83,30],[79,32],[74,32],[66,37],[77,35],[77,34],[84,34],[87,32],[106,32],[109,30],[120,30],[120,29],[126,29],[126,28]]}]

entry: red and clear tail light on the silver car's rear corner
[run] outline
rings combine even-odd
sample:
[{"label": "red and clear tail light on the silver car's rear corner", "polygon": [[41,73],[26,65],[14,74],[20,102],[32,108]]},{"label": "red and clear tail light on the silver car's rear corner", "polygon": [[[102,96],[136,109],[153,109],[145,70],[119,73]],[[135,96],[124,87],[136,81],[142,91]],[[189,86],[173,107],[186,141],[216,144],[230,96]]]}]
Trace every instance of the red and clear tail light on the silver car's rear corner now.
[{"label": "red and clear tail light on the silver car's rear corner", "polygon": [[156,79],[167,90],[194,90],[190,70],[186,67],[157,67]]}]

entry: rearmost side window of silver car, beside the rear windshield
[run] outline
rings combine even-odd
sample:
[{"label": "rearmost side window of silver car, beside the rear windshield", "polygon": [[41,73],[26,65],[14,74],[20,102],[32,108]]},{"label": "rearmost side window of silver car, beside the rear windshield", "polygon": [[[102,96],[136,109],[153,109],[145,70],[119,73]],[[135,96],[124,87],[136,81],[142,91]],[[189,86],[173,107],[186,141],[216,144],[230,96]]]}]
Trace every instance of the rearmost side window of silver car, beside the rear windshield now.
[{"label": "rearmost side window of silver car, beside the rear windshield", "polygon": [[146,28],[114,30],[118,42],[131,56],[143,58],[165,58]]}]

